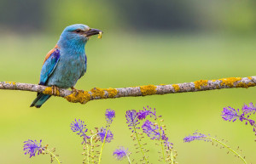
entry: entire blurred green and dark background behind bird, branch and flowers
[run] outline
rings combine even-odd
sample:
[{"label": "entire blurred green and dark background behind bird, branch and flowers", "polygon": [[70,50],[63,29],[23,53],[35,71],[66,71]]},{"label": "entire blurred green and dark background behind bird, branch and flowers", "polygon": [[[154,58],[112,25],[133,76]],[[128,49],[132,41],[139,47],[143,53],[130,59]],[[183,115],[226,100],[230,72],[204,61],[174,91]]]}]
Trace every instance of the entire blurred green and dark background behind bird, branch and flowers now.
[{"label": "entire blurred green and dark background behind bird, branch and flowers", "polygon": [[[194,82],[230,76],[253,76],[256,2],[241,1],[0,1],[0,81],[38,83],[45,54],[67,25],[83,23],[104,31],[86,45],[88,70],[76,88],[123,88],[148,84]],[[102,163],[116,161],[113,150],[124,145],[137,159],[126,110],[155,107],[165,119],[167,136],[179,163],[241,163],[226,150],[202,141],[183,143],[198,130],[239,146],[255,162],[253,128],[224,122],[223,107],[255,103],[256,88],[177,93],[139,98],[96,100],[87,105],[51,98],[30,108],[36,93],[0,91],[0,163],[49,163],[49,156],[29,159],[23,141],[43,139],[63,163],[82,163],[81,139],[70,130],[75,118],[89,128],[105,125],[106,109],[116,110],[114,140],[106,144]],[[149,139],[149,161],[159,163],[160,150]]]}]

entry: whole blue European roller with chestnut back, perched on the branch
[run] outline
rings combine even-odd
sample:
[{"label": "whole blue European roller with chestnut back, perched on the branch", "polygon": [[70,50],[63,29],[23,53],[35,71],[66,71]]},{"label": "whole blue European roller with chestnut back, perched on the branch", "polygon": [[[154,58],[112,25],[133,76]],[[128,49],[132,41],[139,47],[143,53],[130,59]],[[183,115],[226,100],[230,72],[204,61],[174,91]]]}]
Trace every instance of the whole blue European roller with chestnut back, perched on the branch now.
[{"label": "whole blue European roller with chestnut back, perched on the branch", "polygon": [[[84,46],[90,36],[102,34],[102,31],[91,29],[87,25],[76,24],[67,26],[55,48],[51,49],[44,59],[39,85],[56,88],[72,88],[84,76],[87,58]],[[50,95],[38,93],[32,106],[40,108]]]}]

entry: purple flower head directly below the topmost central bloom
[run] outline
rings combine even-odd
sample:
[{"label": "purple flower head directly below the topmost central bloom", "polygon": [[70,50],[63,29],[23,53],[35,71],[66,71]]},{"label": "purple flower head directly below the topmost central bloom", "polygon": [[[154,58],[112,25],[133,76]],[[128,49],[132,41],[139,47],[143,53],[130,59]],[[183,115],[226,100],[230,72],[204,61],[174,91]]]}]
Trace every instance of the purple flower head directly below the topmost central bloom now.
[{"label": "purple flower head directly below the topmost central bloom", "polygon": [[143,133],[146,133],[150,139],[160,139],[160,132],[158,125],[153,122],[146,121],[143,123]]}]

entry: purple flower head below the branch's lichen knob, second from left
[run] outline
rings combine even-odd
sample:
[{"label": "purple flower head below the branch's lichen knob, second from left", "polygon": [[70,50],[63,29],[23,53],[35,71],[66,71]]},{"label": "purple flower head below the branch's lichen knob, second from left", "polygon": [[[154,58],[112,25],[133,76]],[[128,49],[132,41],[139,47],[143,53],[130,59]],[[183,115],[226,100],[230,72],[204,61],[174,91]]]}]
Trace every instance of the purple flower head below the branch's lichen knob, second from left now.
[{"label": "purple flower head below the branch's lichen knob, second from left", "polygon": [[77,134],[84,139],[82,144],[86,142],[86,139],[90,139],[90,137],[85,134],[88,131],[86,125],[84,125],[84,122],[80,119],[79,121],[75,119],[75,121],[71,123],[70,127],[73,132],[78,132]]}]

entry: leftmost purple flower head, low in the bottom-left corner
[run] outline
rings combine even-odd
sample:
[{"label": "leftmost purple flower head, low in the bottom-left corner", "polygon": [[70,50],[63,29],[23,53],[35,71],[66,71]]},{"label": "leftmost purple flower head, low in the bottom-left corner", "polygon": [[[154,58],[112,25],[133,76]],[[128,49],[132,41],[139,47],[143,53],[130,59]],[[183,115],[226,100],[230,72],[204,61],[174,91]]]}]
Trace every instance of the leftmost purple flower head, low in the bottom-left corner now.
[{"label": "leftmost purple flower head, low in the bottom-left corner", "polygon": [[44,148],[42,147],[42,144],[41,144],[42,140],[40,140],[40,143],[37,142],[37,140],[31,140],[31,139],[28,139],[27,141],[25,141],[24,143],[24,146],[23,146],[23,150],[25,150],[25,155],[26,154],[29,154],[30,155],[30,158],[32,156],[35,156],[37,151],[38,151],[38,155],[42,152],[42,150],[44,150]]}]

